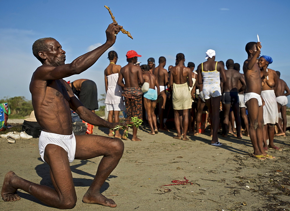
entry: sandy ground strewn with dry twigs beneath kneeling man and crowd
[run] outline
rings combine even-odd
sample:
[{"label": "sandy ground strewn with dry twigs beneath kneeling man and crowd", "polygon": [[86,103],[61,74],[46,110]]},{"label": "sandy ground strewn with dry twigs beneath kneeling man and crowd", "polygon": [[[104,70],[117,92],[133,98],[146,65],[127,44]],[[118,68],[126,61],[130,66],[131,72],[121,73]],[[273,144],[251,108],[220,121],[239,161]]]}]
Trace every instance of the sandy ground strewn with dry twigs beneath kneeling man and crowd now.
[{"label": "sandy ground strewn with dry twigs beneath kneeling man and crowd", "polygon": [[[209,145],[208,131],[190,136],[190,141],[173,139],[175,130],[154,136],[148,131],[148,127],[140,127],[139,142],[129,140],[129,131],[123,157],[102,187],[105,196],[117,195],[109,197],[117,208],[81,201],[100,157],[71,163],[78,198],[74,210],[289,210],[289,134],[275,137],[276,145],[284,149],[269,150],[276,159],[260,161],[250,157],[249,137],[220,136],[223,145],[215,147]],[[106,128],[94,128],[94,134],[107,132]],[[39,156],[38,139],[9,144],[0,138],[0,144],[0,184],[12,170],[32,182],[52,186],[49,167]],[[165,192],[160,187],[184,177],[193,184],[163,186],[171,189]],[[55,210],[23,190],[19,195],[20,201],[1,200],[1,210]]]}]

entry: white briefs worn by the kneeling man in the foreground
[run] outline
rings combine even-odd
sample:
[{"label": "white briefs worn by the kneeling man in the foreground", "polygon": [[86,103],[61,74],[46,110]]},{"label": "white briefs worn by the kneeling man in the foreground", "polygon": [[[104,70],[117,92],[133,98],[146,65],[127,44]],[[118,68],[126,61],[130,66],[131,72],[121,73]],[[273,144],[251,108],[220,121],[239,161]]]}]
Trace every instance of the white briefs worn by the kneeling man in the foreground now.
[{"label": "white briefs worn by the kneeling man in the foreground", "polygon": [[[46,145],[54,144],[62,147],[68,153],[68,161],[71,163],[75,159],[76,141],[75,135],[61,135],[56,133],[49,133],[41,131],[39,136],[39,154],[44,161],[44,150]],[[44,161],[45,162],[45,161]]]}]

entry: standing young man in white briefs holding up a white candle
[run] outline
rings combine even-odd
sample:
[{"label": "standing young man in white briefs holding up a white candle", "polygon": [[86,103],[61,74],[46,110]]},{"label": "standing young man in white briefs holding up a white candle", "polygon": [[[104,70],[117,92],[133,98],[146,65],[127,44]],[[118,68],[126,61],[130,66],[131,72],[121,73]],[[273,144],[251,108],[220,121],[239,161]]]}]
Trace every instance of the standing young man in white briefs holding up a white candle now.
[{"label": "standing young man in white briefs holding up a white candle", "polygon": [[254,148],[253,157],[259,160],[265,160],[266,157],[274,158],[267,154],[263,148],[263,105],[264,100],[261,98],[262,81],[260,68],[257,64],[257,58],[260,56],[261,43],[249,42],[246,45],[248,59],[244,61],[243,71],[247,85],[244,102],[248,108],[249,117],[249,134]]}]

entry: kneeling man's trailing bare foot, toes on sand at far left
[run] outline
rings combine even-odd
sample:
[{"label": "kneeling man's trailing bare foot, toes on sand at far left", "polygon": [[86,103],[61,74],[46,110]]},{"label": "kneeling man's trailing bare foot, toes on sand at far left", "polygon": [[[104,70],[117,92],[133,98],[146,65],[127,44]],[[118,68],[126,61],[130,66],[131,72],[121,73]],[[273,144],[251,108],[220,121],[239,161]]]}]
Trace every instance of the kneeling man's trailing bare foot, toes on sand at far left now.
[{"label": "kneeling man's trailing bare foot, toes on sand at far left", "polygon": [[10,171],[8,172],[3,181],[3,186],[1,190],[1,197],[3,201],[18,201],[20,200],[20,196],[17,194],[17,189],[13,188],[11,186],[11,182],[13,179],[18,177],[14,172]]}]

